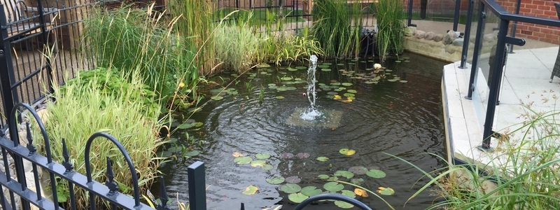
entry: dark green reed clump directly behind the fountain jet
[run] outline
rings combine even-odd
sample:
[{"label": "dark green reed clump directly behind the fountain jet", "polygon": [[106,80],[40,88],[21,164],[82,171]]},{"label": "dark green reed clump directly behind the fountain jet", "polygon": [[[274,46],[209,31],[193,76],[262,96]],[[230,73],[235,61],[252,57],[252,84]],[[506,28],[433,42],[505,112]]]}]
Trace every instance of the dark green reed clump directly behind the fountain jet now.
[{"label": "dark green reed clump directly behind the fountain jet", "polygon": [[316,1],[311,35],[327,57],[358,57],[362,23],[361,4],[348,9],[345,0]]}]

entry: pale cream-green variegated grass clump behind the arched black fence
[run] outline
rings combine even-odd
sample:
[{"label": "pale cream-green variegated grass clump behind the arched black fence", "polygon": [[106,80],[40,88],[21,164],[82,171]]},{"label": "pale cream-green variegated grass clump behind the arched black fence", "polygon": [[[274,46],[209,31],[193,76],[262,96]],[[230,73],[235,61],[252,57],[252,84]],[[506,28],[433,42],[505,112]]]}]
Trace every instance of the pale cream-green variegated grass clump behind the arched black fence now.
[{"label": "pale cream-green variegated grass clump behind the arched black fence", "polygon": [[[146,112],[151,109],[151,104],[146,104],[144,98],[150,98],[150,96],[139,97],[137,95],[145,87],[141,83],[138,73],[130,76],[132,82],[126,83],[127,78],[112,72],[92,73],[87,80],[78,74],[76,78],[64,85],[64,91],[55,87],[55,93],[50,96],[53,97],[53,100],[49,100],[55,102],[48,104],[48,118],[45,119],[45,127],[51,142],[52,158],[56,162],[64,160],[62,144],[57,143],[64,138],[74,169],[80,174],[85,174],[83,160],[87,139],[95,132],[106,132],[116,137],[125,146],[137,169],[139,186],[146,189],[158,176],[159,158],[155,157],[155,151],[162,145],[162,141],[158,137],[159,128],[162,126],[162,122],[158,120],[160,109]],[[120,78],[108,80],[108,77]],[[121,83],[121,86],[117,87],[113,82]],[[103,83],[113,83],[113,85],[100,88],[100,84]],[[36,141],[38,151],[44,153],[43,140],[36,127],[34,127],[34,137],[38,137],[38,141]],[[122,193],[132,193],[131,176],[123,155],[111,141],[106,139],[94,140],[90,153],[93,179],[102,183],[106,181],[104,176],[106,157],[113,162],[115,179]],[[57,191],[67,193],[67,189],[58,189],[59,186],[66,185],[65,181],[60,181],[57,183]],[[75,190],[78,209],[85,209],[88,205],[87,192],[79,188]],[[98,202],[101,204],[100,200]]]}]

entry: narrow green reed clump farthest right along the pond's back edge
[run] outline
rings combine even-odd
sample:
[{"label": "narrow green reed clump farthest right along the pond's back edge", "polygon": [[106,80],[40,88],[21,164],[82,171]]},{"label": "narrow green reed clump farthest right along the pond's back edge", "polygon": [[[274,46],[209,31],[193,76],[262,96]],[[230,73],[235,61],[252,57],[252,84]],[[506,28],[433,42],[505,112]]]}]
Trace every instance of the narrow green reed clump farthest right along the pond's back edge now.
[{"label": "narrow green reed clump farthest right along the pond's back edge", "polygon": [[375,9],[377,10],[377,48],[381,61],[386,59],[387,53],[400,54],[405,47],[404,30],[406,13],[402,1],[379,0]]}]

